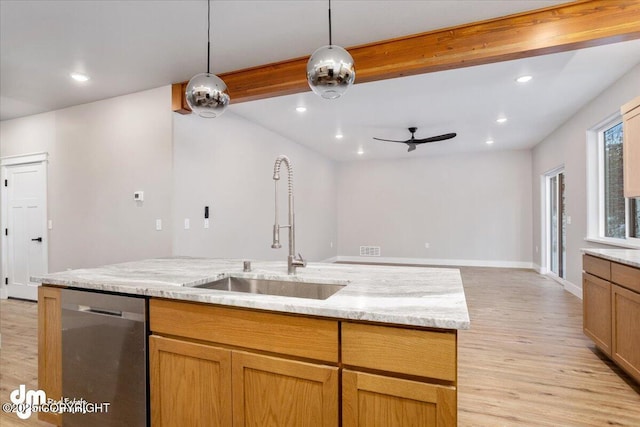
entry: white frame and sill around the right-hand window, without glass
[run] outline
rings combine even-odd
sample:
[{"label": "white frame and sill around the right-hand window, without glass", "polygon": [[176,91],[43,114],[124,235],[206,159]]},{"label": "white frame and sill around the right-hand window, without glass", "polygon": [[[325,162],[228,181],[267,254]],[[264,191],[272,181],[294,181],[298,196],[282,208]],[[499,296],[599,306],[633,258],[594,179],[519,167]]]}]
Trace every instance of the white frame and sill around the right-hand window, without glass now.
[{"label": "white frame and sill around the right-hand window, without glass", "polygon": [[[587,237],[585,240],[623,248],[640,248],[640,238],[631,237],[631,201],[625,197],[625,238],[605,236],[604,132],[623,123],[616,112],[587,131]],[[623,125],[624,126],[624,125]],[[624,132],[624,127],[623,127]],[[595,171],[595,173],[594,173]],[[637,209],[637,205],[636,205]]]}]

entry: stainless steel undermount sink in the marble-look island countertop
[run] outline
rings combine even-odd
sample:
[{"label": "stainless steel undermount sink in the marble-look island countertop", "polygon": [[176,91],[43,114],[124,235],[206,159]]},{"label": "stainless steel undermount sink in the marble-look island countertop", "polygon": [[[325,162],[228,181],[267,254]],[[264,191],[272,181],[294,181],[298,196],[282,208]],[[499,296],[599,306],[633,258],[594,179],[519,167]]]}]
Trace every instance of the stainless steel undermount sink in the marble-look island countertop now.
[{"label": "stainless steel undermount sink in the marble-look island countertop", "polygon": [[227,277],[225,279],[216,280],[215,282],[195,285],[193,287],[283,297],[327,299],[345,286],[346,285],[335,285],[330,283],[306,283]]}]

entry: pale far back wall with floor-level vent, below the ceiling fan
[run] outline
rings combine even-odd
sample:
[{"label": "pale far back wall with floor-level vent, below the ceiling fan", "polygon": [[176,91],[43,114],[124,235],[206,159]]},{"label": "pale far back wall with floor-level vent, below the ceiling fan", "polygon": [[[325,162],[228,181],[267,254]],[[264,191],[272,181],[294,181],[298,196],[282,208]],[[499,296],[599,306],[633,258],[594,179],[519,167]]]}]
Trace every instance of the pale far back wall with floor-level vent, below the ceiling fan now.
[{"label": "pale far back wall with floor-level vent, below the ceiling fan", "polygon": [[338,242],[341,257],[373,245],[400,262],[530,266],[531,153],[342,164]]}]

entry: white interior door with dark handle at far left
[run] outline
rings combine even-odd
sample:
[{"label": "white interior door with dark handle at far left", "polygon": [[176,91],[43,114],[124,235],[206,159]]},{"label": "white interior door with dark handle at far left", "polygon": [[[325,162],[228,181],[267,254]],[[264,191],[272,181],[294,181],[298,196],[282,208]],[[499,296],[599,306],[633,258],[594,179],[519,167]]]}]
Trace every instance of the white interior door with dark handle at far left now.
[{"label": "white interior door with dark handle at far left", "polygon": [[44,162],[6,166],[5,276],[9,297],[37,300],[30,277],[47,272]]}]

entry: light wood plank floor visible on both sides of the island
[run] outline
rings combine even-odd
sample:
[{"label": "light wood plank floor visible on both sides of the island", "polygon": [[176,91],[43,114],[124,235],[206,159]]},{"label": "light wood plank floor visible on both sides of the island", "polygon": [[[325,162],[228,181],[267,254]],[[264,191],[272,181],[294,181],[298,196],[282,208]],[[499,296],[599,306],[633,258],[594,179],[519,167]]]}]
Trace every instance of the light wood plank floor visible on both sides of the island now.
[{"label": "light wood plank floor visible on both sides of the island", "polygon": [[[640,426],[640,387],[582,334],[581,300],[529,270],[461,269],[460,426]],[[37,386],[37,307],[3,300],[0,402]],[[46,426],[0,413],[2,427]]]}]

